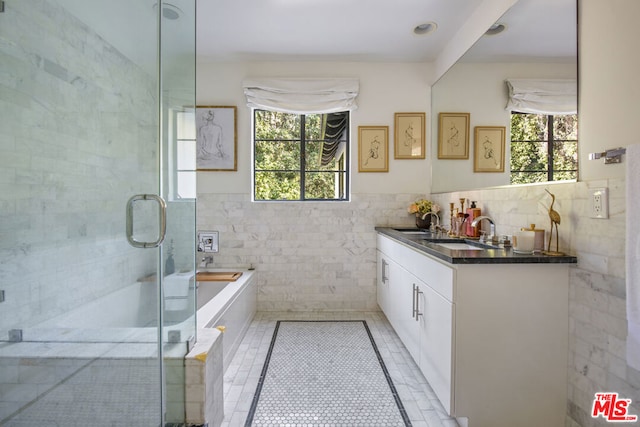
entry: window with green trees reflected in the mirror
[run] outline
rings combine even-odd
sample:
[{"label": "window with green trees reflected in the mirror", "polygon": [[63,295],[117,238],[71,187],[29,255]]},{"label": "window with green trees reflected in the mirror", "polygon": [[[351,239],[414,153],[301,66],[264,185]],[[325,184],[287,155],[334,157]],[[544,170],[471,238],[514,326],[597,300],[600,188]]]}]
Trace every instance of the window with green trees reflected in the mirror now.
[{"label": "window with green trees reflected in the mirror", "polygon": [[511,183],[578,178],[578,115],[511,113]]}]

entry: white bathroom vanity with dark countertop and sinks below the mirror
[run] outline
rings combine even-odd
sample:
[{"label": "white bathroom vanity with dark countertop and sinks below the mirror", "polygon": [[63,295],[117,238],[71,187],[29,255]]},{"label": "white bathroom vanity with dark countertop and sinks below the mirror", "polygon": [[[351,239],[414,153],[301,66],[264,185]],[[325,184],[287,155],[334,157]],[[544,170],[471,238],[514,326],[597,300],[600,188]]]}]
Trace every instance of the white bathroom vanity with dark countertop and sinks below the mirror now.
[{"label": "white bathroom vanity with dark countertop and sinks below the mirror", "polygon": [[377,227],[378,304],[461,426],[561,427],[573,256]]}]

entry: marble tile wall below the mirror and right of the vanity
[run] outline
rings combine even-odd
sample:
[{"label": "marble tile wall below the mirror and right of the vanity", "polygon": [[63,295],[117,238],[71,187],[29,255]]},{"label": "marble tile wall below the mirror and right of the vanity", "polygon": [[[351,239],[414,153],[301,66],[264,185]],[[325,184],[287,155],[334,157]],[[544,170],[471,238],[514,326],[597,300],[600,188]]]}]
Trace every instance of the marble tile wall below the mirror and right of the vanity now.
[{"label": "marble tile wall below the mirror and right of the vanity", "polygon": [[[589,188],[609,188],[609,219],[588,217]],[[504,187],[434,195],[442,206],[460,197],[477,200],[496,220],[499,234],[535,223],[549,230],[544,191],[557,196],[562,218],[560,250],[578,257],[569,281],[567,427],[609,425],[591,417],[596,392],[618,392],[640,414],[640,372],[626,363],[625,182],[620,179]],[[448,213],[445,214],[448,217]]]}]

